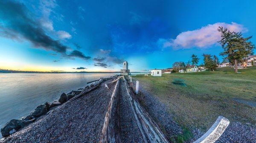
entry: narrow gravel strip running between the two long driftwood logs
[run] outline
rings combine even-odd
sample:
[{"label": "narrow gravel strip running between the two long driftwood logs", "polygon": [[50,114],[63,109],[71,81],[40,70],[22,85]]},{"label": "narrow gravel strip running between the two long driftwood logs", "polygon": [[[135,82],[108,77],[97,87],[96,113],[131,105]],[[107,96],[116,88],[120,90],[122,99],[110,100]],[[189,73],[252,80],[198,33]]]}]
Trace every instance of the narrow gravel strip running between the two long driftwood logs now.
[{"label": "narrow gravel strip running between the two long driftwood logs", "polygon": [[122,143],[144,143],[133,115],[123,79],[120,80],[119,115]]}]

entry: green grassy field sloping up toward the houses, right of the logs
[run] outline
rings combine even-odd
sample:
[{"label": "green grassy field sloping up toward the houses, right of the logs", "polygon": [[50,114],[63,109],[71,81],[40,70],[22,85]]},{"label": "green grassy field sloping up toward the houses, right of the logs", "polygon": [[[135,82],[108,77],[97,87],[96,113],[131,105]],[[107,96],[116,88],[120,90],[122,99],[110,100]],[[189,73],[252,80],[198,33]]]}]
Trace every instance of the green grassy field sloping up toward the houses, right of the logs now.
[{"label": "green grassy field sloping up toward the houses, right of the logs", "polygon": [[[234,101],[256,102],[256,67],[234,73],[232,68],[196,73],[171,73],[162,77],[137,75],[135,79],[169,107],[175,120],[184,127],[207,131],[218,116],[231,122],[256,124],[256,107]],[[183,79],[186,87],[173,84]]]}]

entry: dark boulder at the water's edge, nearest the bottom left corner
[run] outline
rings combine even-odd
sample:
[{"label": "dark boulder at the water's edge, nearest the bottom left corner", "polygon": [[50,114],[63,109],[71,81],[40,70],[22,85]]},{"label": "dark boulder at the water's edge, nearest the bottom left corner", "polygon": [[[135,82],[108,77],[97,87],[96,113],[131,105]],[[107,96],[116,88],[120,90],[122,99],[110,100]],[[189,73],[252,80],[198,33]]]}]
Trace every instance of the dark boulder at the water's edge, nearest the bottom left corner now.
[{"label": "dark boulder at the water's edge, nearest the bottom left corner", "polygon": [[20,125],[19,123],[21,122],[22,120],[16,120],[16,119],[12,119],[10,120],[9,122],[7,122],[3,128],[1,129],[1,134],[3,137],[7,137],[10,135],[10,131],[12,131],[12,129],[15,129],[16,131],[18,129],[20,129]]}]

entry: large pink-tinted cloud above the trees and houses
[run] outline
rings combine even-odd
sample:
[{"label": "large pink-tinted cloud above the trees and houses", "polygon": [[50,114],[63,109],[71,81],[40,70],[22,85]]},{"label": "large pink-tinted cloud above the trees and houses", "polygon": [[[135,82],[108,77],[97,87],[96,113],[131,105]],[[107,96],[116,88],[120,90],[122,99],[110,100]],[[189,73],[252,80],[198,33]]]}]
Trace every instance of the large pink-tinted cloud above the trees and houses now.
[{"label": "large pink-tinted cloud above the trees and houses", "polygon": [[218,44],[217,41],[221,39],[220,33],[217,31],[219,26],[235,32],[248,31],[243,25],[235,22],[231,22],[231,24],[218,22],[193,31],[182,32],[176,39],[159,39],[157,45],[163,46],[163,48],[172,47],[173,49],[207,48]]}]

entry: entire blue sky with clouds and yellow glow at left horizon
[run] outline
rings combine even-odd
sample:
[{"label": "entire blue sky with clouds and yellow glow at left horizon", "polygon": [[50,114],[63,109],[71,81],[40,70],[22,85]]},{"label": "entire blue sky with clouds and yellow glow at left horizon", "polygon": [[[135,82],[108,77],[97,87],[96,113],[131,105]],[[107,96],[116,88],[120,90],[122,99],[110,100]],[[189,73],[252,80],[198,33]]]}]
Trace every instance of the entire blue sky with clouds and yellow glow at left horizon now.
[{"label": "entire blue sky with clouds and yellow glow at left horizon", "polygon": [[0,68],[132,72],[222,57],[218,26],[253,36],[255,0],[0,0]]}]

